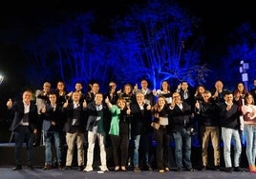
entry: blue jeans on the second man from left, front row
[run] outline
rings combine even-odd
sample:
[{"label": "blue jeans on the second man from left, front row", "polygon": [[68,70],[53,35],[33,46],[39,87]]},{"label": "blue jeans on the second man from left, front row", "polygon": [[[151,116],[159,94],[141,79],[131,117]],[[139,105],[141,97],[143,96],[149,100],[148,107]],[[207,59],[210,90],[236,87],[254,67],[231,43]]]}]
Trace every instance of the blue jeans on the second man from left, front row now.
[{"label": "blue jeans on the second man from left, front row", "polygon": [[44,131],[45,137],[45,164],[52,165],[52,145],[54,144],[57,163],[60,164],[62,162],[62,149],[60,144],[60,132],[59,131]]}]

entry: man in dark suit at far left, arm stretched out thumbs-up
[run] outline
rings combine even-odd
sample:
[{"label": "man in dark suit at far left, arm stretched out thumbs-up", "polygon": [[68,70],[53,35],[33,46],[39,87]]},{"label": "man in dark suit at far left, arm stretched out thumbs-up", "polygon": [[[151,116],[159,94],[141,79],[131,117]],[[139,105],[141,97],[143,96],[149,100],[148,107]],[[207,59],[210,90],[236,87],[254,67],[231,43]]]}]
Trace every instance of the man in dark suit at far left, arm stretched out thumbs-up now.
[{"label": "man in dark suit at far left, arm stretched out thumbs-up", "polygon": [[15,163],[13,170],[22,169],[21,151],[23,143],[27,144],[28,168],[33,169],[33,134],[37,133],[37,107],[32,103],[32,91],[23,92],[22,100],[7,102],[8,109],[14,111],[14,118],[10,130],[15,140]]}]

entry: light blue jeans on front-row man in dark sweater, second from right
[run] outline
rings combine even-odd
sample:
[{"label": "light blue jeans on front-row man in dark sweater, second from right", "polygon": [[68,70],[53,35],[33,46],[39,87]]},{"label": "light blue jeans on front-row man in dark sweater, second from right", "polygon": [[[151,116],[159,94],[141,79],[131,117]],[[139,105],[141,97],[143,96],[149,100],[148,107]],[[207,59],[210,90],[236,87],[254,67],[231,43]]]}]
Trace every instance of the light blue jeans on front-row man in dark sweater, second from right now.
[{"label": "light blue jeans on front-row man in dark sweater, second from right", "polygon": [[224,141],[224,164],[226,168],[232,167],[231,162],[231,143],[234,144],[234,167],[239,167],[240,156],[242,152],[240,134],[238,129],[222,128],[222,137]]}]

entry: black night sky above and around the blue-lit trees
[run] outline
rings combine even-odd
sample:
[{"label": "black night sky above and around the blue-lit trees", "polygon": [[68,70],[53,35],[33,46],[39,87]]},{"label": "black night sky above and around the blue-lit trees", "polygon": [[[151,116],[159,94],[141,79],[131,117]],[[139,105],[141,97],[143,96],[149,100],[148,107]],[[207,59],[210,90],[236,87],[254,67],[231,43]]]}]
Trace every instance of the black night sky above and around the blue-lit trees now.
[{"label": "black night sky above and around the blue-lit trees", "polygon": [[[111,3],[110,3],[111,2]],[[2,2],[0,6],[0,73],[15,70],[22,75],[21,52],[17,45],[27,38],[36,36],[43,27],[53,26],[63,22],[63,17],[69,14],[73,18],[75,14],[92,10],[96,14],[96,25],[93,27],[97,33],[107,34],[107,26],[110,18],[123,15],[127,5],[134,2],[143,3],[145,0],[45,0],[17,2]],[[235,30],[243,22],[250,22],[255,26],[256,10],[253,1],[234,1],[227,3],[221,0],[180,0],[181,6],[189,10],[191,14],[202,18],[199,26],[205,35],[205,61],[212,56],[221,56],[228,44],[227,37],[230,30]],[[252,24],[254,23],[254,24]],[[255,27],[254,27],[255,28]],[[217,55],[218,54],[218,55]],[[15,64],[15,69],[13,69]],[[20,67],[21,69],[18,69]],[[22,83],[18,81],[17,83]],[[0,87],[3,88],[3,87]]]}]

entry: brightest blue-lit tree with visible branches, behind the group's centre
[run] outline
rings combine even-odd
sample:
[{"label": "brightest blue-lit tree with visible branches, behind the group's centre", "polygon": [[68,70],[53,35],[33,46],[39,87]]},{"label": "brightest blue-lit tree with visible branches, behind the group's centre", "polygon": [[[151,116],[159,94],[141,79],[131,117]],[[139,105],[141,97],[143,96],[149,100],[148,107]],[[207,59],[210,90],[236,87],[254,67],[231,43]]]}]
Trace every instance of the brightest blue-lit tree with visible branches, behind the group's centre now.
[{"label": "brightest blue-lit tree with visible branches, behind the group's centre", "polygon": [[201,64],[199,52],[203,38],[192,42],[199,19],[166,0],[134,5],[130,10],[113,22],[113,60],[118,60],[119,78],[138,81],[146,77],[155,88],[161,80],[186,80],[193,86],[205,82],[209,70]]}]

